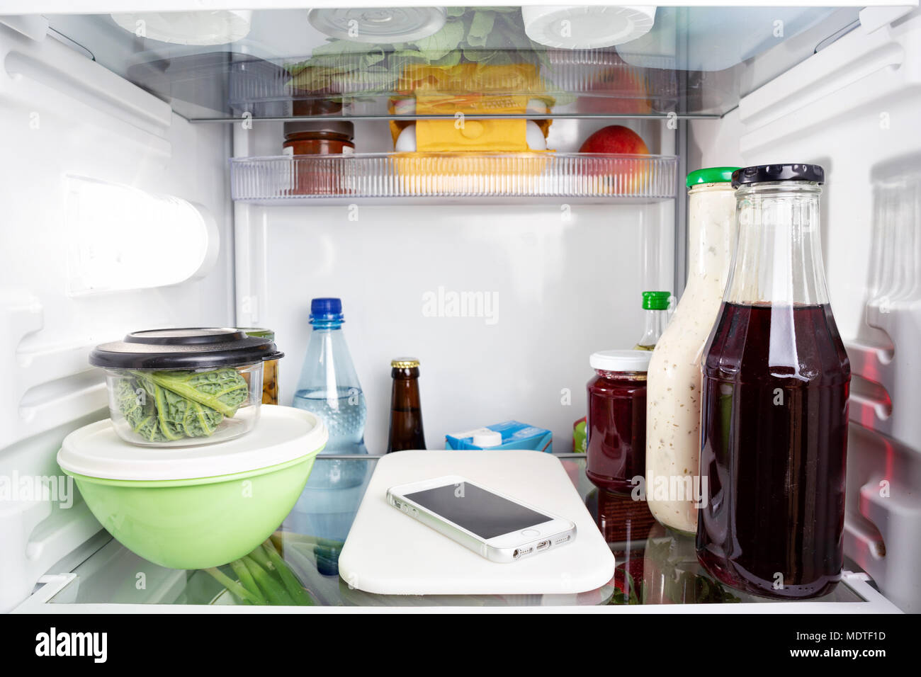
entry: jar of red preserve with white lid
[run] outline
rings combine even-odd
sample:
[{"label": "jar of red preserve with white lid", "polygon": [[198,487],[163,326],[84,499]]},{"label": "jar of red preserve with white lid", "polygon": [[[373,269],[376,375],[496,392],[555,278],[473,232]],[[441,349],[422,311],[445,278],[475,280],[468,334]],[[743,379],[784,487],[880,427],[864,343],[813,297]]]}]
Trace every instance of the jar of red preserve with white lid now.
[{"label": "jar of red preserve with white lid", "polygon": [[646,350],[603,350],[589,365],[586,418],[589,480],[601,489],[629,494],[646,469]]}]

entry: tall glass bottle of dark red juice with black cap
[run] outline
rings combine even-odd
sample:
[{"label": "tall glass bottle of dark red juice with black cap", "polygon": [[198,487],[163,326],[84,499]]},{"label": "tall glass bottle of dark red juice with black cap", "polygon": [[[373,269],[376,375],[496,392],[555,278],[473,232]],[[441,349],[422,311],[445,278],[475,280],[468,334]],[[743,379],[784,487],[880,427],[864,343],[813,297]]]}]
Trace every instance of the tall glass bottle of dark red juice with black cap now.
[{"label": "tall glass bottle of dark red juice with black cap", "polygon": [[843,564],[850,383],[818,242],[823,172],[740,172],[740,239],[703,360],[697,556],[752,594],[817,597]]}]

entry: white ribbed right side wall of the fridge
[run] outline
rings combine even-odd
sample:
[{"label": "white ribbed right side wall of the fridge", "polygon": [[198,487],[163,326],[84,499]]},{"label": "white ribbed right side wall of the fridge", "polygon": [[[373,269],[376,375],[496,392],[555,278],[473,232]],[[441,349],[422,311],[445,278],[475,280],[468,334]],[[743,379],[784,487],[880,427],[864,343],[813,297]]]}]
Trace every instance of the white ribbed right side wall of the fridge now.
[{"label": "white ribbed right side wall of the fridge", "polygon": [[[865,10],[866,11],[866,10]],[[875,15],[862,18],[869,24]],[[757,59],[755,60],[757,64]],[[688,167],[814,162],[822,255],[851,358],[845,552],[921,610],[921,12],[858,28],[694,121]],[[893,188],[894,187],[894,188]]]}]

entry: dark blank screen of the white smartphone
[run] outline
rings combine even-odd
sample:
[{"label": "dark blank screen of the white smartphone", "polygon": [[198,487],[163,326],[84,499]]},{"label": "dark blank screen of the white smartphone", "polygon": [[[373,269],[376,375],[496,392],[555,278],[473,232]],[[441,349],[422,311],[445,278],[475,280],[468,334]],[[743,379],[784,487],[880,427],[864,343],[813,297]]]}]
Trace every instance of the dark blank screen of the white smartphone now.
[{"label": "dark blank screen of the white smartphone", "polygon": [[484,540],[553,519],[469,482],[437,486],[406,497]]}]

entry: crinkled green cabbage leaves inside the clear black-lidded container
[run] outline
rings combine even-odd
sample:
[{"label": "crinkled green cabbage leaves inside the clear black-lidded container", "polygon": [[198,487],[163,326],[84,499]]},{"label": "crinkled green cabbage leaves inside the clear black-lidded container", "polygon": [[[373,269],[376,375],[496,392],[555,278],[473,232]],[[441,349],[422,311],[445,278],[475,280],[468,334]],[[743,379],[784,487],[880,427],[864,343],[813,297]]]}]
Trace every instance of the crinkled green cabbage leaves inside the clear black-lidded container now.
[{"label": "crinkled green cabbage leaves inside the clear black-lidded container", "polygon": [[132,371],[115,398],[135,434],[147,442],[212,436],[246,402],[250,387],[234,368]]}]

